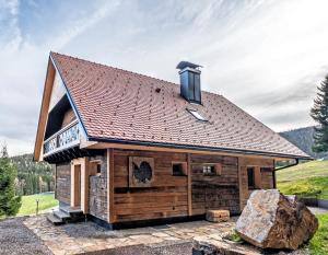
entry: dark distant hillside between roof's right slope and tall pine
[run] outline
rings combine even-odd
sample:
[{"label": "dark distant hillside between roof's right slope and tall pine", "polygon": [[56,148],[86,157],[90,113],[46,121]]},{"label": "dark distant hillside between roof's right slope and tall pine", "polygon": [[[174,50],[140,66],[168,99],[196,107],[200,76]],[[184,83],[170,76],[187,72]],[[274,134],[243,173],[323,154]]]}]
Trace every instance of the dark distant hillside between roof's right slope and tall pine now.
[{"label": "dark distant hillside between roof's right slope and tall pine", "polygon": [[290,131],[280,132],[280,135],[316,159],[328,158],[328,152],[316,153],[312,150],[314,144],[314,127],[293,129]]}]

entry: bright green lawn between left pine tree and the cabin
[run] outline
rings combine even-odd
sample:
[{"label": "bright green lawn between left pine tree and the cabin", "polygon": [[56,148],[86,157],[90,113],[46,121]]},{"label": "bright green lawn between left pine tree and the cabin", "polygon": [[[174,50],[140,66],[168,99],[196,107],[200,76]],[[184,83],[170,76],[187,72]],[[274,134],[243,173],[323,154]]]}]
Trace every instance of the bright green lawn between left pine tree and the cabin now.
[{"label": "bright green lawn between left pine tree and the cabin", "polygon": [[19,211],[19,216],[28,216],[35,213],[36,199],[38,199],[39,211],[58,206],[58,200],[55,199],[54,193],[23,196],[22,207]]}]

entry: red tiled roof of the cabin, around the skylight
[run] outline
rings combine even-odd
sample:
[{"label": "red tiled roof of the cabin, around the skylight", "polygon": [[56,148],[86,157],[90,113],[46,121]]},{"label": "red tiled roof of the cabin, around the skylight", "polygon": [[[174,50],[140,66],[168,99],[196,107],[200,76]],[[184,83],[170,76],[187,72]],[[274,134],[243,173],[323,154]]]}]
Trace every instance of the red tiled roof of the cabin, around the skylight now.
[{"label": "red tiled roof of the cabin, around the skylight", "polygon": [[178,84],[55,53],[51,57],[89,138],[308,157],[222,95],[202,91],[202,105],[190,104]]}]

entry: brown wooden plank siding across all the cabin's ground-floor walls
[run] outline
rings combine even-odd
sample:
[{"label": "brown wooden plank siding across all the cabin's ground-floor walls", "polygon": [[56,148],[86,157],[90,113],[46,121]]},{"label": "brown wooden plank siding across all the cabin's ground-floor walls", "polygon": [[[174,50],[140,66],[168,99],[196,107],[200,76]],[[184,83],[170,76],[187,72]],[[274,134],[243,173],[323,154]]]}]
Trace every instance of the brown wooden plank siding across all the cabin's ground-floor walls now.
[{"label": "brown wooden plank siding across all the cabin's ground-floor walls", "polygon": [[[91,176],[87,200],[89,213],[110,223],[197,216],[208,209],[227,209],[231,213],[238,213],[253,192],[247,184],[248,166],[258,171],[255,174],[258,188],[273,188],[272,159],[119,149],[108,151],[104,155],[89,158]],[[150,187],[129,186],[129,157],[154,159],[154,181]],[[101,175],[93,170],[95,162],[101,163]],[[186,162],[190,174],[173,176],[173,162]],[[202,166],[208,164],[219,165],[220,171],[212,175],[204,174]],[[56,166],[56,197],[65,204],[70,204],[70,163]],[[112,176],[110,182],[108,175]]]}]

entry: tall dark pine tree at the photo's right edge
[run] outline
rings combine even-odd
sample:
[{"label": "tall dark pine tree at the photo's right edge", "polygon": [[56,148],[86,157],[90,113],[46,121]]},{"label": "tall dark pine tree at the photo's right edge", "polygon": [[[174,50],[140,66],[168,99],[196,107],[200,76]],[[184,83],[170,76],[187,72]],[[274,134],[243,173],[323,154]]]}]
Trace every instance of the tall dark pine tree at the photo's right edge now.
[{"label": "tall dark pine tree at the photo's right edge", "polygon": [[318,123],[315,127],[313,151],[328,151],[328,76],[318,86],[317,97],[311,109],[311,116]]}]

